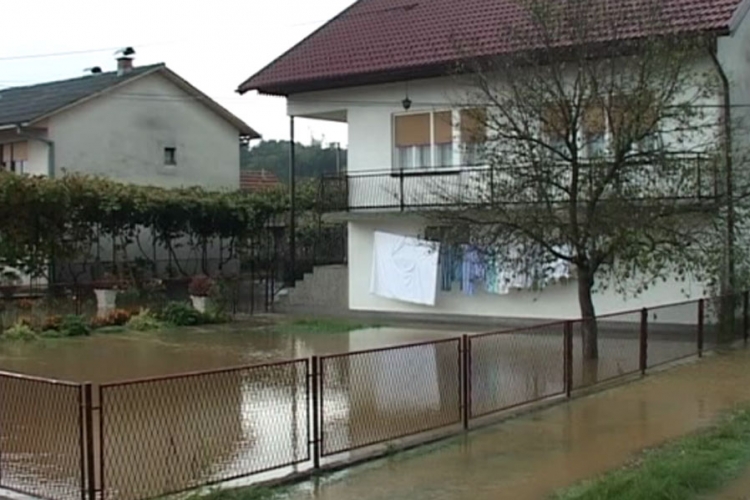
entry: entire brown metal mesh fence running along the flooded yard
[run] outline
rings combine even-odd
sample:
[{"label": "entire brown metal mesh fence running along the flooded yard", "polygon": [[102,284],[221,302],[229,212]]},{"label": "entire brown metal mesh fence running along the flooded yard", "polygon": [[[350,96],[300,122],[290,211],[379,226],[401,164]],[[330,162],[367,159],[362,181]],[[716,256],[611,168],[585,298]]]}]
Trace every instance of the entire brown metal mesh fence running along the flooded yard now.
[{"label": "entire brown metal mesh fence running along the flooded yard", "polygon": [[746,292],[98,387],[0,372],[0,494],[141,500],[382,453],[376,445],[432,440],[720,343],[747,345],[749,302]]}]

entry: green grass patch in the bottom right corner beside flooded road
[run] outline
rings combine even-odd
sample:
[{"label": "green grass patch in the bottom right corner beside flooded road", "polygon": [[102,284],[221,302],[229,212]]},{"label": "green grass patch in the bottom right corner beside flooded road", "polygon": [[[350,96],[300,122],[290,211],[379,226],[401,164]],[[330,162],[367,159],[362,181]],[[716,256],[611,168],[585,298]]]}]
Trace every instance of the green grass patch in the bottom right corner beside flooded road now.
[{"label": "green grass patch in the bottom right corner beside flooded road", "polygon": [[719,490],[750,464],[750,410],[644,451],[632,464],[556,493],[557,500],[689,500]]}]

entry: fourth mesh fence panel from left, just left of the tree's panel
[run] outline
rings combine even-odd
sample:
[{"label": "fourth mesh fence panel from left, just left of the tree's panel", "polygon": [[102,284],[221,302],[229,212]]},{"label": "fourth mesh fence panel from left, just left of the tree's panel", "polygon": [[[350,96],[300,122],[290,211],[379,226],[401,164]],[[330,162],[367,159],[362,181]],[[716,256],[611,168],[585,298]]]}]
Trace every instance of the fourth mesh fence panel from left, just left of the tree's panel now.
[{"label": "fourth mesh fence panel from left, just left of the tree's panel", "polygon": [[469,337],[470,415],[565,392],[564,324]]}]

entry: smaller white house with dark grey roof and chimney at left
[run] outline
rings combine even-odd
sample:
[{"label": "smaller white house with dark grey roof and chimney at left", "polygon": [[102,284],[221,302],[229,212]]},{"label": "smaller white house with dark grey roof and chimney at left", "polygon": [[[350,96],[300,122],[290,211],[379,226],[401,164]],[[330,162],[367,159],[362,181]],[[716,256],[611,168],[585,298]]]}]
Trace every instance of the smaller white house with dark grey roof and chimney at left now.
[{"label": "smaller white house with dark grey roof and chimney at left", "polygon": [[0,90],[0,168],[238,189],[250,126],[164,64]]}]

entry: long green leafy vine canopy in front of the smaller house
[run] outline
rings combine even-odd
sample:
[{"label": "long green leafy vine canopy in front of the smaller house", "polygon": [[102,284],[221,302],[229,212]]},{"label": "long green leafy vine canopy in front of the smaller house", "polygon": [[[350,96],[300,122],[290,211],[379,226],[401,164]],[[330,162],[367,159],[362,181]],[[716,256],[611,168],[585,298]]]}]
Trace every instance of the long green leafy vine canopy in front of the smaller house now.
[{"label": "long green leafy vine canopy in front of the smaller house", "polygon": [[0,172],[0,264],[42,276],[53,257],[79,258],[100,237],[132,241],[141,228],[168,249],[178,238],[241,245],[287,206],[281,190],[163,189],[84,175],[50,179]]}]

